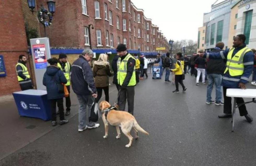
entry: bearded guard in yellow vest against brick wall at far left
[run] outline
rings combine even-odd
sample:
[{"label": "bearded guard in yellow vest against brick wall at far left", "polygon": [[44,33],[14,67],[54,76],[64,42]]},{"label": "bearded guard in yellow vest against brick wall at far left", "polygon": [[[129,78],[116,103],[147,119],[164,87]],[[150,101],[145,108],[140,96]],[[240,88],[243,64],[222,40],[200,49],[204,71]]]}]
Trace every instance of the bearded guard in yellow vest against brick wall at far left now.
[{"label": "bearded guard in yellow vest against brick wall at far left", "polygon": [[19,61],[16,64],[16,73],[21,90],[33,89],[32,81],[27,70],[27,58],[25,55],[19,56]]}]

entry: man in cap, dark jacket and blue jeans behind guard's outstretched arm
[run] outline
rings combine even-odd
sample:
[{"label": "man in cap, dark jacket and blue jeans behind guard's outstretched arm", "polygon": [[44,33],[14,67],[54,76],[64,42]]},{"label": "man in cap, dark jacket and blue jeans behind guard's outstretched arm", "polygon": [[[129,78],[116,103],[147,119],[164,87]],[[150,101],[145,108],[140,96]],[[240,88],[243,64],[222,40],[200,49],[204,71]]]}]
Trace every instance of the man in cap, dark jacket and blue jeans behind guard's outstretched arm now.
[{"label": "man in cap, dark jacket and blue jeans behind guard's outstretched arm", "polygon": [[[220,52],[224,48],[223,42],[218,42],[211,52]],[[208,73],[207,99],[206,104],[215,103],[215,105],[224,105],[222,100],[222,75],[225,71],[225,62],[223,59],[208,59],[206,71]],[[212,100],[212,89],[215,84],[215,101]]]}]

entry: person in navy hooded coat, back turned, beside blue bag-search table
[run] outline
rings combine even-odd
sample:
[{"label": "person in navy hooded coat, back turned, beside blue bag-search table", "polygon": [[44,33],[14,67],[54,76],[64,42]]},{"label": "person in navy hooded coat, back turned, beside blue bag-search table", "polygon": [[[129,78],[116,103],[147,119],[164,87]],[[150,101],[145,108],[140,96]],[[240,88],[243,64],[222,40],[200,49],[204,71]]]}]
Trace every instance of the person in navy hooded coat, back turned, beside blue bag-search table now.
[{"label": "person in navy hooded coat, back turned, beside blue bag-search table", "polygon": [[47,67],[43,77],[43,85],[46,86],[47,98],[50,100],[51,107],[51,124],[56,126],[56,103],[60,112],[60,125],[68,123],[68,120],[64,119],[64,106],[63,97],[64,92],[59,91],[61,84],[66,84],[67,79],[61,69],[57,66],[59,60],[56,58],[48,59],[47,62],[50,66]]}]

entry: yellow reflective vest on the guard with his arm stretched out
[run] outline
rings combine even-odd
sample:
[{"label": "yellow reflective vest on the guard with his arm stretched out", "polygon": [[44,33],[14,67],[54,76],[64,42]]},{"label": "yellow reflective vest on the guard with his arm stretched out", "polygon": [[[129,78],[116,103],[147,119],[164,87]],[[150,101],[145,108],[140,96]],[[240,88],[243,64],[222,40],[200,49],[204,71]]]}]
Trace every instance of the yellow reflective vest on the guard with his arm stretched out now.
[{"label": "yellow reflective vest on the guard with his arm stretched out", "polygon": [[232,57],[234,50],[235,50],[234,47],[229,49],[228,56],[227,56],[226,70],[224,71],[224,74],[227,71],[229,71],[230,76],[241,76],[244,70],[243,56],[251,50],[248,47],[245,47],[239,50],[234,55],[234,57]]}]

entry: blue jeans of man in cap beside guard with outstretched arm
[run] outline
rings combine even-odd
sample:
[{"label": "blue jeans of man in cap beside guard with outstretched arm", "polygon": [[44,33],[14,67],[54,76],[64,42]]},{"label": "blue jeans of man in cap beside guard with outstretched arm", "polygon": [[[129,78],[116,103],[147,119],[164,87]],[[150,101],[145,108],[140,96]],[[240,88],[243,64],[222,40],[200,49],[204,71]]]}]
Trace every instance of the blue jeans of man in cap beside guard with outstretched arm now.
[{"label": "blue jeans of man in cap beside guard with outstretched arm", "polygon": [[206,101],[211,101],[212,100],[212,89],[213,89],[213,84],[216,86],[216,99],[215,101],[220,102],[222,99],[222,86],[221,86],[221,81],[222,81],[222,75],[221,74],[208,74],[208,86],[207,86],[207,100]]}]

